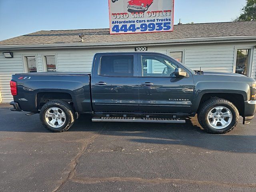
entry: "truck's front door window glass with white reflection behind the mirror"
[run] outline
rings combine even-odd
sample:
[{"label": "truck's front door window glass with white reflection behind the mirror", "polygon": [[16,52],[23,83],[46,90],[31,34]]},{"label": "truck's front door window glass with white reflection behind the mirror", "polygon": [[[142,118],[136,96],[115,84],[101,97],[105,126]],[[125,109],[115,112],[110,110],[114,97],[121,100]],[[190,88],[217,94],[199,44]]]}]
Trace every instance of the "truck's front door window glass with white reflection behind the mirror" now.
[{"label": "truck's front door window glass with white reflection behind the mirror", "polygon": [[142,76],[170,77],[177,65],[159,56],[142,56]]}]

